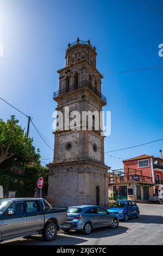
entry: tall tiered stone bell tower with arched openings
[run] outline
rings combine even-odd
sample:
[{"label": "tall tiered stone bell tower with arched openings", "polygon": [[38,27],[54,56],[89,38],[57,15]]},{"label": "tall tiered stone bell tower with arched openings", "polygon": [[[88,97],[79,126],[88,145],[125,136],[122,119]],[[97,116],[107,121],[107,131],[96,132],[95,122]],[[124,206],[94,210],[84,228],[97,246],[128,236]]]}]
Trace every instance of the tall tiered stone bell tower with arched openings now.
[{"label": "tall tiered stone bell tower with arched openings", "polygon": [[[57,111],[100,112],[106,105],[101,94],[103,76],[96,69],[96,48],[88,41],[68,44],[66,66],[58,70],[59,90],[53,95]],[[68,117],[70,119],[71,115]],[[95,118],[95,117],[94,117]],[[86,119],[88,120],[88,119]],[[93,124],[92,118],[92,124]],[[104,164],[104,136],[93,126],[55,130],[54,160],[49,163],[48,200],[57,206],[108,205],[108,169]]]}]

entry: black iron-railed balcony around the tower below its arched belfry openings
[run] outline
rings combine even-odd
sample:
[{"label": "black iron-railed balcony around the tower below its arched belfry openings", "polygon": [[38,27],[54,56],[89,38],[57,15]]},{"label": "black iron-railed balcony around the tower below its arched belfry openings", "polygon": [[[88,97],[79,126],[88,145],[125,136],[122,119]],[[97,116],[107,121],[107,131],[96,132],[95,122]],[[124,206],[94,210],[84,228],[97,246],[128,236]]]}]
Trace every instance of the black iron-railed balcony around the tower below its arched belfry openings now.
[{"label": "black iron-railed balcony around the tower below its arched belfry openings", "polygon": [[93,93],[95,93],[98,97],[100,97],[101,100],[103,100],[104,103],[106,104],[106,97],[101,92],[99,92],[95,87],[93,87],[87,80],[79,82],[78,84],[72,84],[71,86],[69,86],[67,88],[58,90],[57,92],[55,92],[53,94],[53,99],[55,99],[58,96],[64,95],[65,93],[69,93],[69,92],[78,90],[79,88],[83,88],[83,87],[89,88]]}]

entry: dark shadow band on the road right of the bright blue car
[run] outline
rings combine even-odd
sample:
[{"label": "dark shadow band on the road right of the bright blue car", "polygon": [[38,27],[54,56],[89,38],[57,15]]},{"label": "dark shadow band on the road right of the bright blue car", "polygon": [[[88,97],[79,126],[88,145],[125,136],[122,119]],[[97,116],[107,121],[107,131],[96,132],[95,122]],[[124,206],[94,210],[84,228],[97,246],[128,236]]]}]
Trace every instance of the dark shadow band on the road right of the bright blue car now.
[{"label": "dark shadow band on the road right of the bright blue car", "polygon": [[129,222],[163,224],[163,217],[160,215],[140,215],[140,218],[132,218]]}]

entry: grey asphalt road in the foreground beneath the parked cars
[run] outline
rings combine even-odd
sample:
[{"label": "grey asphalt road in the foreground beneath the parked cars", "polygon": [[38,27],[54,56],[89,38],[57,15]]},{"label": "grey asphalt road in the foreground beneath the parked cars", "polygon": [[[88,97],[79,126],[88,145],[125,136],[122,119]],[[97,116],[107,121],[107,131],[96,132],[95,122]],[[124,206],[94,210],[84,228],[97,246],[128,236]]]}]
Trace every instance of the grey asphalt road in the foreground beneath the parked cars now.
[{"label": "grey asphalt road in the foreground beneath the parked cars", "polygon": [[14,239],[1,245],[163,245],[163,205],[139,204],[139,209],[139,219],[120,222],[117,229],[93,230],[89,236],[79,231],[59,231],[53,242],[35,235],[30,240]]}]

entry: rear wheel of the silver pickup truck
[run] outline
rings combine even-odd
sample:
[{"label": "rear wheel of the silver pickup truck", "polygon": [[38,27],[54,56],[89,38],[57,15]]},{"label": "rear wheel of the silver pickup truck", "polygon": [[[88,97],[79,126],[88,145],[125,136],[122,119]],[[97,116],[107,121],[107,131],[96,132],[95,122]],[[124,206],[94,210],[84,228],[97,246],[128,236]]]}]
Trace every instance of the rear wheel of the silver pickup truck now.
[{"label": "rear wheel of the silver pickup truck", "polygon": [[57,225],[55,223],[47,223],[42,231],[42,237],[45,241],[53,241],[57,236]]}]

